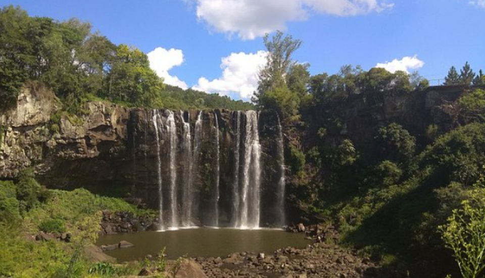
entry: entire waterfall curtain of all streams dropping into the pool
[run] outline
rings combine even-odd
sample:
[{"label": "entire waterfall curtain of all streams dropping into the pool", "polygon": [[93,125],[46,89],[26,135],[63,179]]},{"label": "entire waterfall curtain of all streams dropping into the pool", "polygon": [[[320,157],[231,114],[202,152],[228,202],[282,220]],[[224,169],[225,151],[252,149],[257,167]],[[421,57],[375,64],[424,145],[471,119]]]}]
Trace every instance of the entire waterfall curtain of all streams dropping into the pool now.
[{"label": "entire waterfall curtain of all streams dropping into the pool", "polygon": [[[260,142],[259,112],[232,111],[229,117],[224,113],[223,119],[218,110],[152,111],[147,129],[153,129],[155,148],[146,150],[144,156],[155,156],[156,173],[150,175],[158,187],[160,230],[281,228],[285,224],[283,134],[278,115],[271,138],[275,154],[269,155]],[[262,156],[271,163],[262,165]],[[274,182],[267,182],[266,173],[277,175],[272,177]],[[263,201],[262,195],[268,193],[272,196]],[[263,222],[267,212],[271,217]]]}]

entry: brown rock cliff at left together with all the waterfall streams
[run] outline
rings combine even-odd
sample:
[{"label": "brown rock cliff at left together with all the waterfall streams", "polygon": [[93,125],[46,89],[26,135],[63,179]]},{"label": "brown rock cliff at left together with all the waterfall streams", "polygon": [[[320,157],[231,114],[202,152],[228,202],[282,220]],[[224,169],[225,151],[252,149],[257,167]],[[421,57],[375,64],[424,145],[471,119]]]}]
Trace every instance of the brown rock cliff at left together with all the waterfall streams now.
[{"label": "brown rock cliff at left together with all the waterfall streams", "polygon": [[34,167],[51,188],[129,196],[160,209],[161,228],[281,224],[282,133],[274,112],[104,102],[85,110],[69,115],[51,91],[24,88],[17,108],[0,118],[0,177]]}]

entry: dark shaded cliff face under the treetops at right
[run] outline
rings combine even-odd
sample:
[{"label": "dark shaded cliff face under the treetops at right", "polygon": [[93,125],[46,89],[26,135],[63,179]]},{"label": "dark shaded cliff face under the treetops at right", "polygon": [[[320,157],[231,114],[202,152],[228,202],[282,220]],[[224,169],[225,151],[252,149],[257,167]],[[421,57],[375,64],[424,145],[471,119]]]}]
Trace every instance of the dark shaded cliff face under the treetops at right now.
[{"label": "dark shaded cliff face under the treetops at right", "polygon": [[306,146],[315,145],[318,129],[325,127],[326,144],[335,147],[343,138],[350,138],[358,150],[372,154],[374,137],[380,127],[401,124],[418,143],[426,141],[429,125],[437,125],[445,133],[460,124],[458,99],[466,93],[464,86],[435,86],[424,91],[366,98],[350,96],[311,107],[304,113]]}]

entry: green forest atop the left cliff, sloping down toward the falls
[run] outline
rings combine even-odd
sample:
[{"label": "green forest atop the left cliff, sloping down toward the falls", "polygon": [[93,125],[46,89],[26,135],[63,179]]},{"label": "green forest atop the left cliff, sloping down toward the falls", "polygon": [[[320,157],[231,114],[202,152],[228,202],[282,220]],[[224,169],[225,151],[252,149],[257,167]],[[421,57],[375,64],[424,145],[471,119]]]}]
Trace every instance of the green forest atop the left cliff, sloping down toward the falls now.
[{"label": "green forest atop the left cliff, sloping down toward the falls", "polygon": [[226,96],[167,86],[135,47],[115,45],[89,23],[30,17],[19,7],[0,10],[0,65],[1,110],[15,105],[28,81],[52,88],[69,112],[82,112],[86,100],[171,109],[253,108]]}]

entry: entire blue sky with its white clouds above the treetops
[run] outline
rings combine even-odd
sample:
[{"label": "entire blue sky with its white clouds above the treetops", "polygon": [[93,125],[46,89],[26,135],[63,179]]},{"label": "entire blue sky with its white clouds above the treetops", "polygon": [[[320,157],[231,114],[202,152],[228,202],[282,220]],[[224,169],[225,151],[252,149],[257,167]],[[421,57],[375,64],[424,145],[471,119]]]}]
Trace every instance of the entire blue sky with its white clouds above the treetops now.
[{"label": "entire blue sky with its white clouds above the treetops", "polygon": [[0,0],[10,4],[88,21],[149,54],[167,83],[236,99],[255,89],[262,35],[277,29],[303,41],[294,58],[311,74],[379,64],[436,84],[452,65],[485,70],[485,0]]}]

